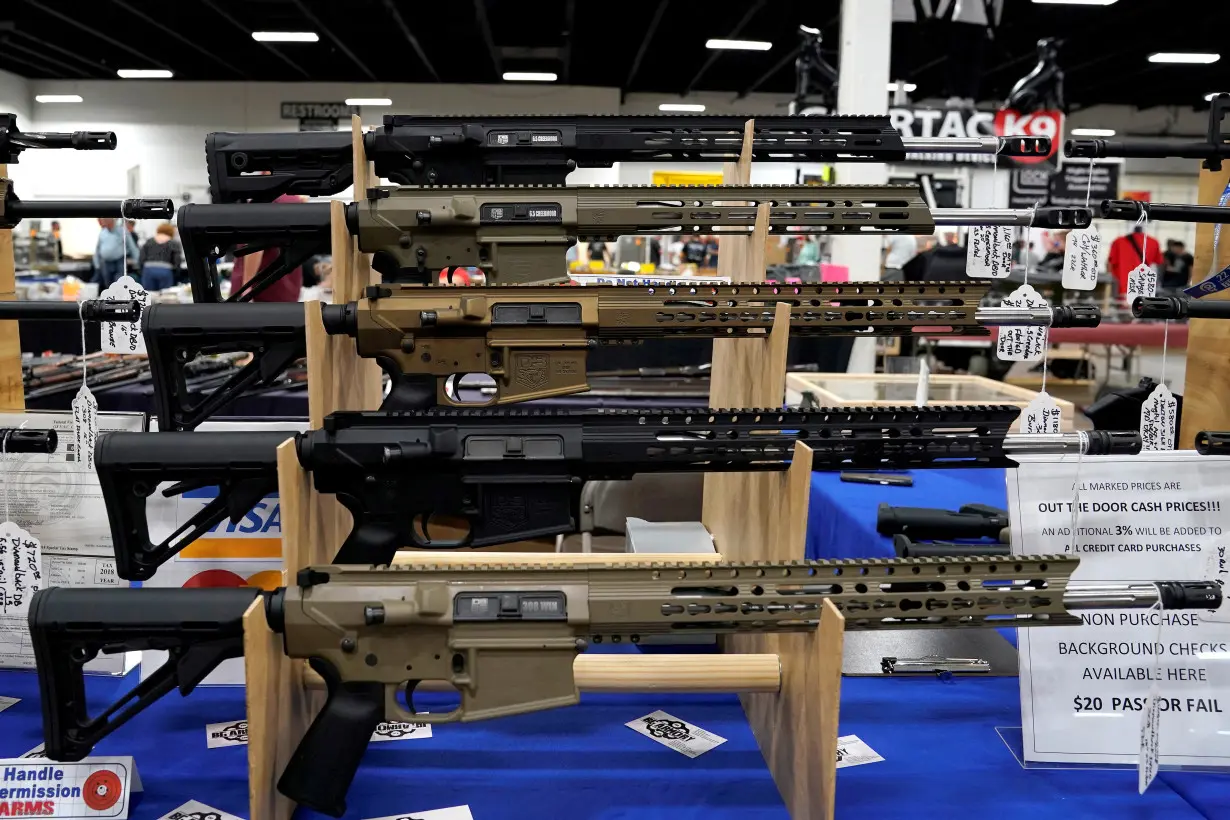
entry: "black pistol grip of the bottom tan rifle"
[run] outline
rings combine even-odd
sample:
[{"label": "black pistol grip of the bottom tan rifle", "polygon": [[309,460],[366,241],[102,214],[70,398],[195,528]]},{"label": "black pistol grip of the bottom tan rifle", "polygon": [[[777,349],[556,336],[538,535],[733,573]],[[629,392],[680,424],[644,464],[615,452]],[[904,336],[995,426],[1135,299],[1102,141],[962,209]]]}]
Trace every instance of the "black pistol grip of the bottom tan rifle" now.
[{"label": "black pistol grip of the bottom tan rifle", "polygon": [[384,720],[384,685],[343,681],[330,664],[309,660],[328,688],[328,700],[290,755],[278,790],[309,809],[341,818],[346,793]]}]

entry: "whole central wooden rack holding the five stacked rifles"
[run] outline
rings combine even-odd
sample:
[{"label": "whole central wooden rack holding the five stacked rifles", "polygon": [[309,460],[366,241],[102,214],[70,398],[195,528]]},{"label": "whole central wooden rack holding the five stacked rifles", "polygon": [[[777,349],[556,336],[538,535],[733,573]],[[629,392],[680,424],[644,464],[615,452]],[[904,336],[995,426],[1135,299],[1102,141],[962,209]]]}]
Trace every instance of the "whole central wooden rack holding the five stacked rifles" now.
[{"label": "whole central wooden rack holding the five stacked rifles", "polygon": [[[370,167],[362,127],[352,120],[354,191],[368,187]],[[750,176],[752,123],[743,156],[726,166],[727,182]],[[734,280],[764,278],[768,205],[761,205],[748,236],[723,236],[720,261]],[[371,267],[346,229],[341,203],[333,204],[333,302],[359,299],[371,282]],[[754,272],[754,275],[753,275]],[[373,409],[380,403],[380,371],[360,359],[346,337],[330,337],[320,305],[305,306],[308,328],[309,416],[312,427],[335,411]],[[787,312],[779,309],[781,320]],[[710,404],[779,407],[785,396],[788,321],[763,339],[720,339],[713,344]],[[785,473],[710,475],[705,479],[702,520],[721,556],[731,561],[803,558],[812,451],[797,444]],[[290,443],[278,450],[282,500],[283,583],[310,564],[328,563],[351,526],[349,514],[322,497],[299,466]],[[480,563],[507,561],[509,553],[413,551],[413,561]],[[400,559],[408,559],[402,553]],[[658,561],[713,561],[715,556],[656,554]],[[620,556],[536,553],[535,562],[620,561]],[[276,788],[290,754],[322,704],[315,675],[282,653],[282,639],[266,623],[260,602],[245,615],[247,677],[248,795],[251,820],[288,820],[294,804]],[[844,618],[825,602],[820,627],[808,634],[736,636],[727,656],[582,655],[574,666],[583,691],[739,692],[787,808],[793,818],[833,816],[836,773],[838,698],[840,696]],[[669,670],[669,671],[668,671]],[[654,681],[646,685],[646,680]]]}]

